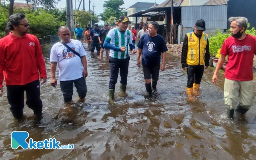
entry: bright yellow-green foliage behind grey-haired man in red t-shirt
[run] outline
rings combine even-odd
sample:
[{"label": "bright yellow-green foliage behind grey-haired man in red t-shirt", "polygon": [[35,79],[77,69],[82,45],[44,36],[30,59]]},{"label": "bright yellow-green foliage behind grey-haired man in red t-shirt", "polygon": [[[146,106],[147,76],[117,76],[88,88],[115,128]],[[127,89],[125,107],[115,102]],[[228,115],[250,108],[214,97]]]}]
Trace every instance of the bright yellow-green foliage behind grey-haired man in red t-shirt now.
[{"label": "bright yellow-green foliage behind grey-haired man in red t-shirt", "polygon": [[[250,23],[247,25],[247,30],[245,30],[246,34],[256,36],[256,29],[253,27],[249,30]],[[222,44],[225,39],[231,36],[230,29],[227,30],[227,33],[222,33],[217,29],[217,35],[209,37],[209,51],[210,55],[216,56],[218,58],[218,51],[220,51]],[[220,56],[220,55],[219,55]]]}]

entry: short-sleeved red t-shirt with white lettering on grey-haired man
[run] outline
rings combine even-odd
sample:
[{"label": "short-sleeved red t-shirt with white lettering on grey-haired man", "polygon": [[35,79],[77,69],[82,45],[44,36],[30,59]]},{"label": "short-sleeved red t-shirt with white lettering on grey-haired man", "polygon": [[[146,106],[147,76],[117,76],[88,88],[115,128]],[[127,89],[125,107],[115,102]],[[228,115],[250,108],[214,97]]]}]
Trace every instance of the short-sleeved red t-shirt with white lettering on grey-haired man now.
[{"label": "short-sleeved red t-shirt with white lettering on grey-haired man", "polygon": [[256,55],[256,37],[246,35],[243,40],[227,38],[221,54],[228,56],[225,78],[234,81],[253,80],[253,57]]}]

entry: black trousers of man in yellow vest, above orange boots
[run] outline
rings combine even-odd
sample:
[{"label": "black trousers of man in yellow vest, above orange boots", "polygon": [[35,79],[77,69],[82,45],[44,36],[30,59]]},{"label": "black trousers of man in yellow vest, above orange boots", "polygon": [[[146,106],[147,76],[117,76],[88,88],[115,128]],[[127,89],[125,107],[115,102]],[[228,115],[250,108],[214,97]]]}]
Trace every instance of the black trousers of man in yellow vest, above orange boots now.
[{"label": "black trousers of man in yellow vest, above orange boots", "polygon": [[188,73],[188,83],[187,87],[191,88],[193,87],[193,84],[200,84],[202,76],[204,74],[204,66],[202,65],[197,65],[197,66],[190,66],[188,65],[187,68],[187,73]]}]

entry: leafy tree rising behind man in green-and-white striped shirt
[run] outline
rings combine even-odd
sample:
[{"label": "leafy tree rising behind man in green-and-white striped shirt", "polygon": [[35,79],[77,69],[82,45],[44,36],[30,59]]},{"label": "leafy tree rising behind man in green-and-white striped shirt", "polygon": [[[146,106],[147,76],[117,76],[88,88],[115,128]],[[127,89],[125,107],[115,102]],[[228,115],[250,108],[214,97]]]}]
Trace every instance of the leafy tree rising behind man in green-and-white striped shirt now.
[{"label": "leafy tree rising behind man in green-and-white striped shirt", "polygon": [[99,15],[101,17],[101,20],[106,21],[111,16],[116,17],[116,19],[118,19],[121,15],[124,15],[123,11],[125,8],[120,7],[123,4],[124,0],[105,1],[105,3],[103,4],[103,7],[105,8],[104,12]]}]

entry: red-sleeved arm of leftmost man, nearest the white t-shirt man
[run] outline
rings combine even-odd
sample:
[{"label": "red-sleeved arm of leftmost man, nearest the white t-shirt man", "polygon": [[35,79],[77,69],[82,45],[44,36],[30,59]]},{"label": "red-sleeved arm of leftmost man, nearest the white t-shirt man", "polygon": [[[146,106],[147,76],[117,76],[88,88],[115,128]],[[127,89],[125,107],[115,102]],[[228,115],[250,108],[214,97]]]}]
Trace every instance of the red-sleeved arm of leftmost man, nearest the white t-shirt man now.
[{"label": "red-sleeved arm of leftmost man, nearest the white t-shirt man", "polygon": [[44,57],[43,57],[43,53],[42,53],[42,48],[40,45],[40,42],[38,41],[38,39],[36,38],[36,43],[35,43],[35,54],[36,54],[36,61],[37,61],[37,67],[40,73],[40,78],[45,78],[44,82],[46,82],[46,78],[47,78],[47,73],[46,73],[46,67],[45,67],[45,63],[44,63]]}]

